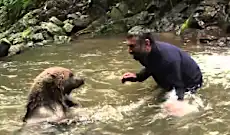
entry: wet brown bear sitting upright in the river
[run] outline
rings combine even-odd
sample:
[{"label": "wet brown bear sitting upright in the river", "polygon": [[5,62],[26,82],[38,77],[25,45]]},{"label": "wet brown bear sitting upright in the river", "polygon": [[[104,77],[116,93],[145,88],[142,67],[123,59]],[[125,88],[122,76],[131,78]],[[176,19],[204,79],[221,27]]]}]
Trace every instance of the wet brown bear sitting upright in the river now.
[{"label": "wet brown bear sitting upright in the river", "polygon": [[73,89],[84,84],[82,78],[63,67],[50,67],[41,72],[32,84],[25,123],[58,122],[66,117],[66,112],[74,103],[69,95]]}]

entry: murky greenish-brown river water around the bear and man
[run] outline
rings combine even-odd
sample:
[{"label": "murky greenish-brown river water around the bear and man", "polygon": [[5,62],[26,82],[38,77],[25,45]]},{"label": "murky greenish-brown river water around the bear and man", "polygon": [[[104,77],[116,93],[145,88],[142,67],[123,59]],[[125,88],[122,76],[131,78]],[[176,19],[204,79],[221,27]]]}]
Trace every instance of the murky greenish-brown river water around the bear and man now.
[{"label": "murky greenish-brown river water around the bear and man", "polygon": [[[0,135],[17,134],[22,126],[29,87],[36,75],[50,66],[70,68],[86,79],[83,87],[72,92],[72,97],[84,108],[97,112],[94,118],[98,121],[55,127],[47,134],[230,134],[229,49],[183,46],[171,34],[162,34],[159,40],[180,46],[199,63],[204,86],[197,97],[205,104],[200,112],[181,118],[164,117],[156,100],[158,89],[155,90],[151,78],[143,83],[121,84],[123,73],[141,68],[128,54],[124,38],[82,38],[71,45],[26,51],[0,63]],[[32,132],[35,134],[35,130]]]}]

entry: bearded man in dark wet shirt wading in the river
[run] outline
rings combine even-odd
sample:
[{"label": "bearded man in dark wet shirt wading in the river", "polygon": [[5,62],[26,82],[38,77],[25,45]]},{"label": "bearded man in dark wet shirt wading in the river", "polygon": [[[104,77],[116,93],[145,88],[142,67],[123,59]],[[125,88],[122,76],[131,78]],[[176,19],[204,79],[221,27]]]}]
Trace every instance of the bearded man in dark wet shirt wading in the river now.
[{"label": "bearded man in dark wet shirt wading in the river", "polygon": [[202,86],[202,73],[197,63],[180,48],[165,42],[156,42],[147,30],[130,30],[127,46],[133,58],[144,68],[139,73],[125,73],[126,81],[142,82],[152,76],[156,83],[170,91],[176,90],[178,100],[184,99],[185,92],[196,93]]}]

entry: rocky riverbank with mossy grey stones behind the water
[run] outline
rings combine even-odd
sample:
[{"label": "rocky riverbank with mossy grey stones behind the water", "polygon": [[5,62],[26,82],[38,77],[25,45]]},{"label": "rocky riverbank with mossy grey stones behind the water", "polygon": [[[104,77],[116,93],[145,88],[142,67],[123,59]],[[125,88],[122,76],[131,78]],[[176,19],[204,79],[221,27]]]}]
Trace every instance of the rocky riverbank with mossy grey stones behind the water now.
[{"label": "rocky riverbank with mossy grey stones behind the water", "polygon": [[118,34],[135,26],[174,32],[185,42],[230,46],[229,7],[227,0],[47,0],[6,27],[9,10],[1,5],[0,52],[11,56],[69,43],[81,34]]}]

